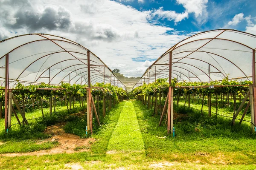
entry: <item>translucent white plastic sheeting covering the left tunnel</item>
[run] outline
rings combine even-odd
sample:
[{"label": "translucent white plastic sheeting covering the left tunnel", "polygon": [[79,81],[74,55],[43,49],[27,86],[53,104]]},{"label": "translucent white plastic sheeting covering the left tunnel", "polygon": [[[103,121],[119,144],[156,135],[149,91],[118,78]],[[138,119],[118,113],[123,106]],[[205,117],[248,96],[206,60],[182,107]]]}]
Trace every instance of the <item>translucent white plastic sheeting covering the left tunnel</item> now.
[{"label": "translucent white plastic sheeting covering the left tunnel", "polygon": [[[0,42],[0,83],[5,81],[6,54],[9,54],[9,85],[87,84],[87,48],[49,34],[26,34]],[[99,57],[90,52],[90,80],[111,83],[125,89],[125,85]]]}]

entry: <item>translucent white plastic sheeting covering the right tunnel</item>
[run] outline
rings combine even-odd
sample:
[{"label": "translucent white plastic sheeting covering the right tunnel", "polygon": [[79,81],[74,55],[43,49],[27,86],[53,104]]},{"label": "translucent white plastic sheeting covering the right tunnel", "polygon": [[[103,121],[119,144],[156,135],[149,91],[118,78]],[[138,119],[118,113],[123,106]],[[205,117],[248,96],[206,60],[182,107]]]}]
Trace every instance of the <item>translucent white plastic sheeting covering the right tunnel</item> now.
[{"label": "translucent white plastic sheeting covering the right tunnel", "polygon": [[172,51],[172,78],[186,82],[228,79],[252,80],[256,36],[236,30],[212,30],[189,37],[166,51],[143,74],[134,87],[169,78]]}]

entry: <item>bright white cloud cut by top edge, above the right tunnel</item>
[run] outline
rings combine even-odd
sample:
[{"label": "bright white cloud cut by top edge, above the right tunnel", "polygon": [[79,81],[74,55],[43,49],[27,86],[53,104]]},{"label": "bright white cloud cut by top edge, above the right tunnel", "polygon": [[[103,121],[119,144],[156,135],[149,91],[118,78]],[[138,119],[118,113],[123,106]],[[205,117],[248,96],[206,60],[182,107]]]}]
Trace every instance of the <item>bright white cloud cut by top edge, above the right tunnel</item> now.
[{"label": "bright white cloud cut by top edge, above the right tunnel", "polygon": [[194,13],[195,17],[207,15],[208,0],[176,0],[178,4],[183,5],[188,13]]}]

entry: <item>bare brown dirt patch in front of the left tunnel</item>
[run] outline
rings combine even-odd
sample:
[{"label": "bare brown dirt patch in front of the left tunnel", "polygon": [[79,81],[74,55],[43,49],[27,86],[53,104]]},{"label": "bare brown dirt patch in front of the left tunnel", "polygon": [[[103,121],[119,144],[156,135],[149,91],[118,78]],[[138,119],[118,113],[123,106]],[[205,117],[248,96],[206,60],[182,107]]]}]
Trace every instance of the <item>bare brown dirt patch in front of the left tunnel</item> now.
[{"label": "bare brown dirt patch in front of the left tunnel", "polygon": [[79,136],[65,133],[63,130],[64,124],[57,124],[47,127],[44,133],[52,135],[51,138],[38,141],[38,144],[44,142],[58,141],[60,144],[58,147],[54,147],[50,150],[39,150],[29,153],[6,153],[1,156],[41,156],[52,155],[57,153],[75,153],[89,151],[90,145],[95,142],[93,138],[80,139]]}]

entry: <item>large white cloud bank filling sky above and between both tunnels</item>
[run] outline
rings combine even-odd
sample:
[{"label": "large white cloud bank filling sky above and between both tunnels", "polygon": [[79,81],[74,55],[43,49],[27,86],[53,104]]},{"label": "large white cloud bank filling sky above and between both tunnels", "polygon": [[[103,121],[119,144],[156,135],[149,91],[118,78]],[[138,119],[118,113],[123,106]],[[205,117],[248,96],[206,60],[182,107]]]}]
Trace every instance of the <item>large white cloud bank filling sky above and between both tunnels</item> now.
[{"label": "large white cloud bank filling sky above and between both tunnels", "polygon": [[[111,69],[119,68],[125,76],[138,77],[145,72],[147,65],[143,64],[144,61],[137,62],[137,57],[145,57],[145,60],[157,59],[164,51],[187,37],[177,32],[166,34],[174,29],[148,22],[152,11],[138,11],[115,1],[12,1],[19,3],[15,4],[17,8],[13,8],[14,4],[10,2],[0,0],[0,39],[34,32],[65,37],[90,49]],[[52,11],[57,13],[55,18],[58,22],[49,22],[58,23],[57,26],[51,25],[54,26],[52,29],[44,24],[32,29],[29,22],[31,18],[26,17],[23,18],[23,23],[17,23],[15,14],[19,10],[26,9],[30,16],[37,16],[43,14],[46,8],[54,9]],[[62,17],[63,12],[65,15]],[[63,23],[60,19],[68,19],[68,25],[60,27]],[[8,20],[12,22],[7,22]]]}]

